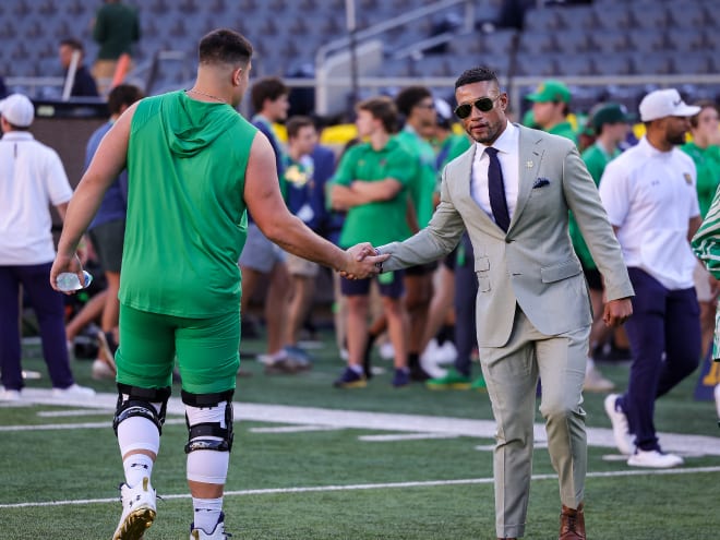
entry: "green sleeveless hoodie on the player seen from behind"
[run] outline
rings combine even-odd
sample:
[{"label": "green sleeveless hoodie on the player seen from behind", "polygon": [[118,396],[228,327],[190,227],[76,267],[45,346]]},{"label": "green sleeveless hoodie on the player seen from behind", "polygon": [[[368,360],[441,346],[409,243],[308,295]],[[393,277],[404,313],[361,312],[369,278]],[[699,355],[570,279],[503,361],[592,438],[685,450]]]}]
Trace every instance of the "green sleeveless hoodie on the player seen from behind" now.
[{"label": "green sleeveless hoodie on the player seen from behind", "polygon": [[229,105],[183,91],[140,101],[128,146],[123,304],[201,319],[239,309],[256,131]]}]

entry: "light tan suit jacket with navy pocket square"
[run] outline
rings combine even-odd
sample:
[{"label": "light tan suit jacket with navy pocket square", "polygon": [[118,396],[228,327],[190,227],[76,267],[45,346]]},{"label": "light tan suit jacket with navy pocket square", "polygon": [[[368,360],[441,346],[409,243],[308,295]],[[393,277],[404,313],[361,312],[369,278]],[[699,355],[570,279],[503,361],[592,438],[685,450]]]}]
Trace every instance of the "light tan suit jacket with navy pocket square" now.
[{"label": "light tan suit jacket with navy pocket square", "polygon": [[507,233],[470,194],[473,144],[445,168],[441,202],[428,227],[404,242],[380,248],[392,254],[385,271],[413,266],[449,253],[467,228],[479,283],[480,347],[507,343],[516,305],[544,335],[592,322],[583,267],[567,230],[568,211],[604,278],[607,300],[633,296],[620,245],[575,145],[518,128],[518,199]]}]

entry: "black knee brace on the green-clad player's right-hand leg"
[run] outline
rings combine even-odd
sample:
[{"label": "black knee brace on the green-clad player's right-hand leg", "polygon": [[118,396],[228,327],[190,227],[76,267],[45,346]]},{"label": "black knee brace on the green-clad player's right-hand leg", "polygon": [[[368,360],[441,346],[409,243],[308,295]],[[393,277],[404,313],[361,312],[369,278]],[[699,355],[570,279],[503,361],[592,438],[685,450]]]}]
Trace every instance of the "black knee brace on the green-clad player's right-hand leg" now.
[{"label": "black knee brace on the green-clad player's right-hand leg", "polygon": [[[220,422],[205,422],[190,425],[190,419],[185,413],[185,425],[188,425],[188,444],[185,454],[201,449],[212,449],[217,452],[230,452],[232,449],[232,395],[235,391],[226,391],[216,394],[191,394],[182,391],[182,403],[191,407],[217,407],[223,401],[225,405],[225,425]],[[204,439],[214,436],[220,439]]]}]

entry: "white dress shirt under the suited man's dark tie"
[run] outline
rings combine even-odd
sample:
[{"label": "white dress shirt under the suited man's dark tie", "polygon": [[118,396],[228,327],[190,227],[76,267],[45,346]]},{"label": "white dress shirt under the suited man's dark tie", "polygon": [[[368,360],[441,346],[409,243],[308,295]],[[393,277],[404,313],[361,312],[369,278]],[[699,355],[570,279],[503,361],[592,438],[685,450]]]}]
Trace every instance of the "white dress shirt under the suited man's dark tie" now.
[{"label": "white dress shirt under the suited man's dark tie", "polygon": [[[517,206],[517,192],[519,188],[519,131],[509,121],[505,130],[492,144],[497,148],[497,160],[503,171],[503,183],[505,185],[505,200],[507,201],[507,213],[511,220]],[[488,166],[490,157],[485,154],[485,146],[481,143],[476,144],[475,159],[472,161],[472,179],[470,184],[470,194],[478,205],[494,219],[490,208],[490,194],[488,193]]]}]

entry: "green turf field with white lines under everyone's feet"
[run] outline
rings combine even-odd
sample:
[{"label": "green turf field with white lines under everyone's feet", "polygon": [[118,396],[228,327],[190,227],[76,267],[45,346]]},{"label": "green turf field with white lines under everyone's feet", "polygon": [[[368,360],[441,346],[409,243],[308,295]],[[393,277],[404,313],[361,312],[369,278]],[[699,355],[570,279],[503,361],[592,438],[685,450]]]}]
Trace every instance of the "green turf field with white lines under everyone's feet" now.
[{"label": "green turf field with white lines under everyone's feet", "polygon": [[[389,372],[368,388],[332,387],[343,363],[329,335],[314,369],[268,376],[242,345],[236,442],[225,497],[232,539],[494,539],[492,417],[488,396],[394,389]],[[377,360],[377,365],[389,368]],[[28,388],[47,388],[37,350],[24,368],[43,373]],[[621,388],[627,364],[601,365]],[[120,516],[122,467],[111,416],[112,382],[92,381],[91,362],[73,361],[93,404],[0,405],[2,445],[0,538],[109,539]],[[593,540],[720,537],[720,430],[712,403],[693,400],[697,375],[657,404],[661,444],[685,466],[629,468],[612,447],[602,395],[588,394],[589,478],[586,521]],[[191,501],[184,480],[187,439],[181,406],[169,407],[153,483],[158,517],[146,540],[189,536]],[[540,421],[538,417],[538,421]],[[538,431],[528,539],[557,538],[557,482]]]}]

